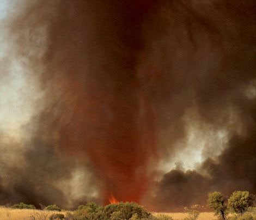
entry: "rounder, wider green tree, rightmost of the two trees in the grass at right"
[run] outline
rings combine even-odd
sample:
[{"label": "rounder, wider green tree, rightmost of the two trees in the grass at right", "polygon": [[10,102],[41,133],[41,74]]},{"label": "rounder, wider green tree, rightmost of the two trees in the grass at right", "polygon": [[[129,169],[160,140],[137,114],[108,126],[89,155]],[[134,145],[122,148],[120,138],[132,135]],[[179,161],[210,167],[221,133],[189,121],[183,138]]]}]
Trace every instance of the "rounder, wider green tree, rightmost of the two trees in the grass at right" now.
[{"label": "rounder, wider green tree, rightmost of the two trees in the grass at right", "polygon": [[228,199],[228,206],[236,213],[246,212],[248,207],[253,204],[253,199],[248,191],[235,191]]}]

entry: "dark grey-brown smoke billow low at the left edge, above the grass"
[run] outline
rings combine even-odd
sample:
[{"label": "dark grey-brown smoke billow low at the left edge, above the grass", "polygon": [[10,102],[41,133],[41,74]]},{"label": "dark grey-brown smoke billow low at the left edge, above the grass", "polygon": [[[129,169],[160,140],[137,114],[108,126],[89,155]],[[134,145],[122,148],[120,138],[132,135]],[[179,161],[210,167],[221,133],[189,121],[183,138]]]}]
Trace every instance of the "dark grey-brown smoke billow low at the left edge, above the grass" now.
[{"label": "dark grey-brown smoke billow low at the left edge, above the grass", "polygon": [[[69,176],[69,170],[63,169],[62,162],[54,156],[50,146],[45,146],[45,143],[40,141],[33,144],[36,148],[25,150],[22,158],[13,156],[22,153],[22,149],[17,149],[17,143],[1,143],[2,203],[25,201],[39,205],[49,204],[56,198],[64,197],[52,182]],[[11,148],[11,152],[10,149],[3,150],[3,145],[5,148]],[[12,156],[14,158],[11,158]],[[9,160],[12,161],[11,164]]]}]

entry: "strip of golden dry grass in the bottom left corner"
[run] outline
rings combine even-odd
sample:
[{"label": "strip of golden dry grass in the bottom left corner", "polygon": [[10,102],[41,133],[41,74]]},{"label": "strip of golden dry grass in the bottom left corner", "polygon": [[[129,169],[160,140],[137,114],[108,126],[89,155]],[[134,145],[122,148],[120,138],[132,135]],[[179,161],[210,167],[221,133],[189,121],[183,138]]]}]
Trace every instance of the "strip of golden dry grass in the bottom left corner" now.
[{"label": "strip of golden dry grass in the bottom left corner", "polygon": [[49,217],[53,213],[63,213],[65,215],[65,212],[0,207],[0,220],[31,220],[30,216],[32,215],[39,216],[45,213]]}]

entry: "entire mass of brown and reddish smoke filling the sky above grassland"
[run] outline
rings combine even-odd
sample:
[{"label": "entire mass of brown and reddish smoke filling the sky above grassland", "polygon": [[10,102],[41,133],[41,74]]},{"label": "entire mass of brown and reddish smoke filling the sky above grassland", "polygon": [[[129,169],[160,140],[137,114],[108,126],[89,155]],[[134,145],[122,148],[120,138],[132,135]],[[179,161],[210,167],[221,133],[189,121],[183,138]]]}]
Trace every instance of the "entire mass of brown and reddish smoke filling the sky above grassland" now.
[{"label": "entire mass of brown and reddish smoke filling the sky above grassland", "polygon": [[[255,1],[17,1],[14,9],[5,59],[21,60],[44,95],[22,127],[27,138],[1,136],[2,204],[71,207],[113,194],[169,211],[204,204],[209,191],[256,193]],[[157,164],[194,147],[184,144],[194,125],[214,133],[197,137],[206,140],[202,162],[160,172]]]}]

